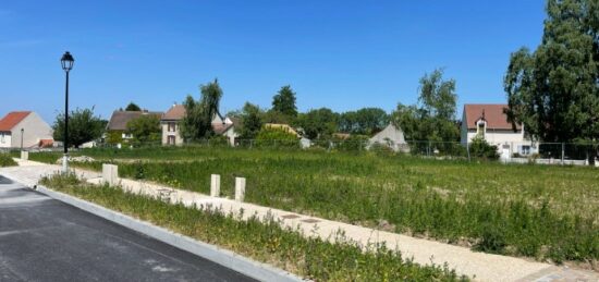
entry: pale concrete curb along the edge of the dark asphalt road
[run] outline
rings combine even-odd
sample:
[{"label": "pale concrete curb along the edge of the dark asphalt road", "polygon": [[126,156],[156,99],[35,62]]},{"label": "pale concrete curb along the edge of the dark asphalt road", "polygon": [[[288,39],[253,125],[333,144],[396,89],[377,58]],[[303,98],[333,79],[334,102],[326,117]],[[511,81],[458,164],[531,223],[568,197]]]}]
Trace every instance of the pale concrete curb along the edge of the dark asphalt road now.
[{"label": "pale concrete curb along the edge of the dark asphalt road", "polygon": [[37,185],[37,191],[62,203],[74,206],[89,213],[96,214],[119,225],[137,231],[149,237],[167,243],[176,248],[200,256],[244,275],[260,281],[305,281],[290,272],[272,266],[257,262],[240,256],[231,250],[219,248],[215,245],[196,241],[148,222],[134,219],[118,211],[107,209],[96,204],[75,198],[73,196],[56,192]]}]

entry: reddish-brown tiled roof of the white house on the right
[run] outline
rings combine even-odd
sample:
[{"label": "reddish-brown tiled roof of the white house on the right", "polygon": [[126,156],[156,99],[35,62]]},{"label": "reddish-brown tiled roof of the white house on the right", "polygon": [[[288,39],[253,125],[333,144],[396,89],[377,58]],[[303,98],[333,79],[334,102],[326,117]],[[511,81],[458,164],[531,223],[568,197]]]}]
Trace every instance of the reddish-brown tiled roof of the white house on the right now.
[{"label": "reddish-brown tiled roof of the white house on the right", "polygon": [[[487,130],[512,130],[512,123],[508,122],[508,115],[503,113],[503,109],[506,109],[508,105],[496,103],[469,103],[464,105],[464,115],[468,130],[476,130],[476,122],[482,119],[485,113],[485,121],[487,121]],[[516,124],[516,130],[521,130],[522,126]]]}]

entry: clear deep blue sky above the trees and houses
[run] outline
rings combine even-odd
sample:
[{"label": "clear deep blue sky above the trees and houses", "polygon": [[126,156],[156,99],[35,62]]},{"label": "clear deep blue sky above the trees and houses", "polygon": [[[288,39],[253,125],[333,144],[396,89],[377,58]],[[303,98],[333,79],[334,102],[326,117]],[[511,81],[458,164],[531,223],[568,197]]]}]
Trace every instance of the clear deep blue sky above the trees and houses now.
[{"label": "clear deep blue sky above the trees and houses", "polygon": [[[414,103],[436,68],[459,106],[505,102],[510,53],[535,48],[543,0],[1,1],[0,115],[64,107],[60,57],[75,58],[71,106],[166,111],[218,77],[221,111],[270,107],[290,84],[301,111]],[[462,108],[459,108],[461,114]]]}]

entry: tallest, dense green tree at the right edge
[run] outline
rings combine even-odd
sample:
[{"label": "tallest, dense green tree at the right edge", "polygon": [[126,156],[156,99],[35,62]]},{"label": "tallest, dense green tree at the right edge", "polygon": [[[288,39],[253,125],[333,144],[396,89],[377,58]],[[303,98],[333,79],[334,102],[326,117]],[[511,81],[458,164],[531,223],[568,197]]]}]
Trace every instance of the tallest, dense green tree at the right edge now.
[{"label": "tallest, dense green tree at the right edge", "polygon": [[548,0],[541,44],[512,53],[509,121],[543,142],[599,138],[599,2]]}]

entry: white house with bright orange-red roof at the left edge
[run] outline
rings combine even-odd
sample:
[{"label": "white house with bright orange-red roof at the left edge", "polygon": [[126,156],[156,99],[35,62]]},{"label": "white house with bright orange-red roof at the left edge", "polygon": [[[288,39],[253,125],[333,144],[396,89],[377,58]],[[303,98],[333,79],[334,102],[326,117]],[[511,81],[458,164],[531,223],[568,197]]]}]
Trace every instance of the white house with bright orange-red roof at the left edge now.
[{"label": "white house with bright orange-red roof at the left edge", "polygon": [[0,148],[52,146],[52,127],[33,111],[14,111],[0,120]]}]

